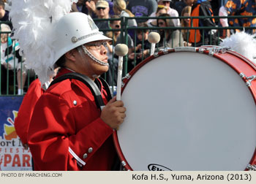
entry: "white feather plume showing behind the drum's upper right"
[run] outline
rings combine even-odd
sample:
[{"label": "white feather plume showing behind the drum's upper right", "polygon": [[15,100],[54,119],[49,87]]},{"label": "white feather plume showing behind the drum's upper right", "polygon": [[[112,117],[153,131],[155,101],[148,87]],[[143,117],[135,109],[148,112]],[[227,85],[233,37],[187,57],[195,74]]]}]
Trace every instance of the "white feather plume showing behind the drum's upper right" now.
[{"label": "white feather plume showing behind the drum's upper right", "polygon": [[222,40],[220,46],[229,47],[230,50],[236,51],[248,58],[250,61],[256,63],[256,39],[255,35],[246,34],[244,31],[237,32],[236,34],[232,34],[230,37],[227,37]]}]

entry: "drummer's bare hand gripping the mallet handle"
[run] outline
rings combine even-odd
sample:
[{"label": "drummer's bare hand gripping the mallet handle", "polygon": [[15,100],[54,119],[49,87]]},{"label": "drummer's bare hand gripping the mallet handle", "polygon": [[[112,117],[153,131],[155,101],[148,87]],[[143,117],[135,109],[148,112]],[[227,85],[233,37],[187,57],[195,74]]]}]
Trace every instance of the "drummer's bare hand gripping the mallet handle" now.
[{"label": "drummer's bare hand gripping the mallet handle", "polygon": [[108,101],[108,104],[102,109],[100,118],[112,129],[117,129],[125,118],[125,111],[123,101],[116,101],[116,96]]}]

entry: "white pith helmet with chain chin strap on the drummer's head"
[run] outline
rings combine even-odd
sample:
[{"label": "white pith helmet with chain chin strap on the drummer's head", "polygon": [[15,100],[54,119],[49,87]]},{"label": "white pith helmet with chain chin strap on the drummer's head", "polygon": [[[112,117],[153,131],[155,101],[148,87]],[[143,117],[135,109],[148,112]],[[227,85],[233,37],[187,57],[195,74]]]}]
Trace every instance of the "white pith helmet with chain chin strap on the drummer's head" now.
[{"label": "white pith helmet with chain chin strap on the drummer's head", "polygon": [[54,30],[56,40],[53,42],[55,48],[54,63],[75,47],[99,40],[111,40],[99,31],[89,15],[81,12],[64,15],[56,23]]}]

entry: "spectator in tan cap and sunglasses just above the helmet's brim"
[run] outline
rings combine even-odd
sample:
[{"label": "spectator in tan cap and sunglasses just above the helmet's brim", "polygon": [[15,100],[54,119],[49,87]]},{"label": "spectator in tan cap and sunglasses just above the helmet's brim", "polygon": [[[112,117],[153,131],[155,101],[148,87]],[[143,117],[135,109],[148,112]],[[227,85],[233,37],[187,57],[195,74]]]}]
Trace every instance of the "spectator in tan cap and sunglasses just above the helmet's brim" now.
[{"label": "spectator in tan cap and sunglasses just above the helmet's brim", "polygon": [[[108,19],[108,18],[110,18],[108,1],[105,1],[105,0],[97,1],[96,15],[97,15],[97,18],[99,18],[99,19]],[[95,23],[98,26],[99,30],[110,28],[110,21],[109,20],[95,20]]]}]

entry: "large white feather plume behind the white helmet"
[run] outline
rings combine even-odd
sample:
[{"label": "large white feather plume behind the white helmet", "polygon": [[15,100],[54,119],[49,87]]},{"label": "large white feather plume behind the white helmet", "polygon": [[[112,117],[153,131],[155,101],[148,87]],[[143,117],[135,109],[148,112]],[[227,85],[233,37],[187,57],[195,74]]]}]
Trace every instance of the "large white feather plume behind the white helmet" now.
[{"label": "large white feather plume behind the white helmet", "polygon": [[56,22],[71,11],[78,0],[12,0],[10,18],[27,69],[34,69],[42,84],[53,74]]}]

